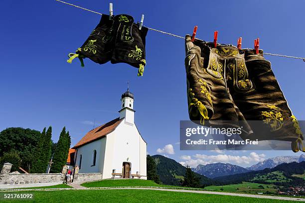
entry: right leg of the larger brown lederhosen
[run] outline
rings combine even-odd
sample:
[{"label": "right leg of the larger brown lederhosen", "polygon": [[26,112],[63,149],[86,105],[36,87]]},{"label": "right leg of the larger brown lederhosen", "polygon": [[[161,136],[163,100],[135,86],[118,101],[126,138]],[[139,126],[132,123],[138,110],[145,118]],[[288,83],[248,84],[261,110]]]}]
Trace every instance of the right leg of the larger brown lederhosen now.
[{"label": "right leg of the larger brown lederhosen", "polygon": [[[271,63],[263,56],[263,50],[259,50],[259,54],[253,49],[244,49],[245,64],[237,64],[235,68],[236,81],[245,80],[246,76],[254,84],[252,91],[231,91],[232,98],[241,110],[246,120],[262,120],[263,127],[260,124],[251,125],[254,135],[249,139],[259,140],[284,140],[292,141],[292,149],[299,151],[302,147],[303,135],[296,117],[293,115],[288,106],[288,102],[277,82],[277,79],[271,69]],[[245,69],[243,69],[245,67]],[[232,67],[228,70],[232,73]],[[234,71],[233,71],[234,72]],[[231,74],[232,75],[232,74]],[[232,77],[232,76],[231,76]],[[234,77],[234,76],[233,76]],[[234,81],[228,80],[230,88]],[[238,82],[240,83],[240,82]],[[244,87],[249,87],[249,83]],[[262,133],[264,132],[264,133]],[[264,134],[264,136],[260,136]]]}]

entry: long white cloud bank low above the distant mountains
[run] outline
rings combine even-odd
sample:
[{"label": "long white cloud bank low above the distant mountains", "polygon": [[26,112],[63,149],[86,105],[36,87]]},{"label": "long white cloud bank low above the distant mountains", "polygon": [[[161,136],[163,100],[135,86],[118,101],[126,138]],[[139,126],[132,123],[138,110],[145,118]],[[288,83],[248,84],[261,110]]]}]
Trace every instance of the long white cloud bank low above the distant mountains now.
[{"label": "long white cloud bank low above the distant mountains", "polygon": [[218,155],[195,154],[193,155],[192,159],[187,159],[187,160],[183,159],[183,160],[185,161],[180,162],[180,164],[184,166],[189,165],[191,167],[196,167],[198,164],[206,165],[206,164],[218,163],[218,162],[243,165],[243,164],[257,163],[263,161],[265,160],[265,154],[257,154],[255,152],[251,152],[248,156],[233,156],[226,154],[218,154]]}]

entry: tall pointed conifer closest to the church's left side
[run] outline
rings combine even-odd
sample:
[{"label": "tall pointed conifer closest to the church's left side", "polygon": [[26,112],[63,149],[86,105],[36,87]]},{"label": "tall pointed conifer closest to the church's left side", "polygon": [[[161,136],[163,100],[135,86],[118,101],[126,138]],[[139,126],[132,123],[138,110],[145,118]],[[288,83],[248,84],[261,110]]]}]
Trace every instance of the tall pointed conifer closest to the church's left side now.
[{"label": "tall pointed conifer closest to the church's left side", "polygon": [[69,148],[71,144],[71,138],[69,132],[66,133],[66,127],[63,127],[56,149],[53,156],[53,164],[51,165],[50,173],[60,173],[62,167],[66,164]]}]

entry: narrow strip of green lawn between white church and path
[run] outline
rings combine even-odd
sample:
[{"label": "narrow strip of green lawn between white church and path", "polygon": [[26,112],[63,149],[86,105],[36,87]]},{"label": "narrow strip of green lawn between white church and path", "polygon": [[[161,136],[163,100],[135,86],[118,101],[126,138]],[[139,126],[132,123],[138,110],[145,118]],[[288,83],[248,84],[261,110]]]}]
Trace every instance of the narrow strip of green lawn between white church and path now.
[{"label": "narrow strip of green lawn between white church and path", "polygon": [[83,183],[81,186],[86,188],[98,188],[98,187],[176,187],[159,185],[149,180],[139,179],[119,179],[119,180],[102,180],[95,182]]}]

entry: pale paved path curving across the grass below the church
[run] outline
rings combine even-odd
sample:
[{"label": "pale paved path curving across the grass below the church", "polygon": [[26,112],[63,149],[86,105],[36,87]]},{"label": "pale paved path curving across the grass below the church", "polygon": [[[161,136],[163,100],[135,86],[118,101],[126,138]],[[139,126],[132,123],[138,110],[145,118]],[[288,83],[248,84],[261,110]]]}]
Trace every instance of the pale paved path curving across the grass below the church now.
[{"label": "pale paved path curving across the grass below the church", "polygon": [[[197,191],[197,190],[181,190],[181,189],[163,189],[163,188],[141,188],[141,187],[121,187],[121,188],[85,188],[80,186],[79,184],[69,184],[73,188],[65,188],[65,189],[16,189],[17,191],[58,191],[58,190],[157,190],[157,191],[170,191],[170,192],[178,192],[178,193],[198,193],[198,194],[212,194],[212,195],[227,195],[227,196],[238,196],[238,197],[248,197],[248,198],[261,198],[261,199],[274,199],[274,200],[289,200],[289,201],[299,201],[305,202],[303,198],[289,198],[289,197],[281,197],[281,196],[266,196],[266,195],[250,195],[250,194],[240,194],[240,193],[225,193],[225,192],[213,192],[213,191]],[[9,191],[16,191],[9,190]],[[0,192],[7,192],[0,191]]]}]

